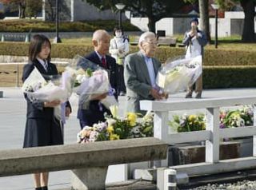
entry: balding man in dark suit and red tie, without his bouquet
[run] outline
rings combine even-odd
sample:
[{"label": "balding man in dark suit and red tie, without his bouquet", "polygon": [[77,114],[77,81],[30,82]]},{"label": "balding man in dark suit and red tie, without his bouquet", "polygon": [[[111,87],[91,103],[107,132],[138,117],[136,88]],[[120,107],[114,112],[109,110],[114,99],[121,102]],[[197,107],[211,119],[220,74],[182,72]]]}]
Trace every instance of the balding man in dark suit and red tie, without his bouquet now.
[{"label": "balding man in dark suit and red tie, without his bouquet", "polygon": [[[86,55],[86,59],[94,62],[95,64],[106,69],[110,77],[110,85],[117,92],[117,71],[116,61],[113,57],[110,57],[106,53],[109,52],[110,47],[110,35],[106,30],[96,30],[93,34],[93,46],[94,52]],[[82,66],[78,64],[78,66]],[[78,119],[80,121],[81,129],[88,125],[92,126],[98,121],[105,121],[104,113],[110,114],[110,110],[106,109],[104,105],[100,103],[102,99],[106,97],[107,93],[103,93],[98,97],[94,97],[89,103],[88,109],[78,108]],[[118,98],[117,93],[114,94]]]}]

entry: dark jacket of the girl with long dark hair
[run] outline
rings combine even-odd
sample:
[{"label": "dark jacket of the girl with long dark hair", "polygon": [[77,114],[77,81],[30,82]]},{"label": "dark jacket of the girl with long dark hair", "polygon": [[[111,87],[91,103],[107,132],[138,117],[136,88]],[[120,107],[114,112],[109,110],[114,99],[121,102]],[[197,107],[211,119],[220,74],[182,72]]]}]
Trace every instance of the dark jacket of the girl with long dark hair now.
[{"label": "dark jacket of the girl with long dark hair", "polygon": [[[43,66],[40,64],[38,60],[29,62],[26,64],[23,68],[23,75],[22,75],[22,81],[24,82],[27,77],[30,76],[30,73],[33,71],[34,67],[38,69],[40,73],[43,74],[43,77],[46,78],[46,80],[49,80],[50,77],[47,77],[47,75],[57,75],[58,70],[56,66],[52,63],[48,63],[48,71],[43,68]],[[26,98],[26,94],[25,94]],[[47,118],[52,119],[54,117],[54,109],[53,108],[44,108],[44,102],[42,101],[33,101],[31,102],[28,98],[26,98],[27,101],[27,111],[26,111],[26,117],[27,118]],[[66,106],[70,107],[70,102],[66,102]],[[70,107],[71,109],[71,107]]]}]

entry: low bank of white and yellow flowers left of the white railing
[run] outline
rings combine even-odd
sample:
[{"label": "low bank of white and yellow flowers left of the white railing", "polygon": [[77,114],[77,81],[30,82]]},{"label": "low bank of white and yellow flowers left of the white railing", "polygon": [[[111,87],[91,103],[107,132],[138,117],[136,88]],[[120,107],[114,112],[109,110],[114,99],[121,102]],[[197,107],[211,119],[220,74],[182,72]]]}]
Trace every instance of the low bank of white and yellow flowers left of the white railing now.
[{"label": "low bank of white and yellow flowers left of the white railing", "polygon": [[124,118],[106,116],[106,122],[84,127],[77,138],[78,143],[87,143],[152,136],[152,113],[146,114],[145,117],[140,117],[136,113],[127,113]]}]

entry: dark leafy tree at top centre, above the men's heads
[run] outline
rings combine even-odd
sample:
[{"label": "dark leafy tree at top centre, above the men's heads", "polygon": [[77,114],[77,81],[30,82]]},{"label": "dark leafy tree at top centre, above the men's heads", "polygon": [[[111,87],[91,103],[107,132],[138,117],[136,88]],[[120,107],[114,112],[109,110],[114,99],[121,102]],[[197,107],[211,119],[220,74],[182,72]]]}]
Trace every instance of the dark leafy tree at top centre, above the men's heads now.
[{"label": "dark leafy tree at top centre, above the men's heads", "polygon": [[126,10],[130,10],[133,15],[147,17],[149,19],[149,29],[153,32],[155,32],[155,22],[158,22],[161,18],[172,17],[175,11],[186,4],[186,2],[179,0],[86,0],[86,2],[98,7],[100,10],[111,9],[114,11],[117,11],[115,4],[122,2],[126,5]]}]

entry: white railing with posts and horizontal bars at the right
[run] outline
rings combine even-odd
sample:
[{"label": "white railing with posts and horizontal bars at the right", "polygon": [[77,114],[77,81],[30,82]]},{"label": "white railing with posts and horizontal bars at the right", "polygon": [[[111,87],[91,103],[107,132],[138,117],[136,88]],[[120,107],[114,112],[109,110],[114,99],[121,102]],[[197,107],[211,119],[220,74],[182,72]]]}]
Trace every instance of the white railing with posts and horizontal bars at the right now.
[{"label": "white railing with posts and horizontal bars at the right", "polygon": [[[223,97],[206,99],[182,99],[170,101],[141,101],[142,110],[154,111],[154,137],[168,144],[193,141],[206,141],[206,160],[201,164],[174,166],[178,172],[189,175],[230,172],[238,169],[256,168],[256,127],[219,129],[219,113],[221,107],[235,105],[254,105],[256,97]],[[188,133],[169,133],[167,122],[169,112],[185,109],[206,109],[206,130]],[[255,125],[255,111],[254,111]],[[219,160],[220,139],[224,137],[253,137],[253,156],[232,160]],[[166,167],[166,160],[155,163],[155,166]],[[202,166],[202,167],[199,167]]]}]

